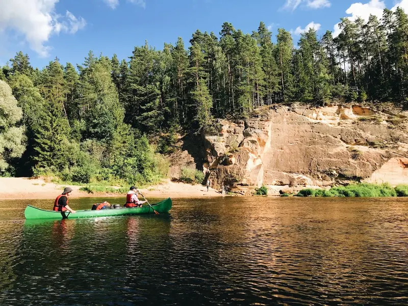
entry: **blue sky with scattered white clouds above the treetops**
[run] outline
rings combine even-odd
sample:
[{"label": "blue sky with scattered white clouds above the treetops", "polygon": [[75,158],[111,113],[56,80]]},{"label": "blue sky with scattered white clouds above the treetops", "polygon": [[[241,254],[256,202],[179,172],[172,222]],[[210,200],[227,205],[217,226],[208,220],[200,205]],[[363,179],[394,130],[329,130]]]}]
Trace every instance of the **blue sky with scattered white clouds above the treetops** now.
[{"label": "blue sky with scattered white clouds above the treetops", "polygon": [[[194,31],[218,35],[224,21],[251,33],[262,20],[293,31],[295,43],[307,25],[319,35],[334,29],[340,17],[368,17],[408,0],[0,0],[0,65],[19,50],[42,68],[56,56],[82,63],[89,50],[119,59],[135,45],[162,48],[181,36],[186,45]],[[346,14],[348,10],[349,14]],[[313,23],[311,23],[313,22]]]}]

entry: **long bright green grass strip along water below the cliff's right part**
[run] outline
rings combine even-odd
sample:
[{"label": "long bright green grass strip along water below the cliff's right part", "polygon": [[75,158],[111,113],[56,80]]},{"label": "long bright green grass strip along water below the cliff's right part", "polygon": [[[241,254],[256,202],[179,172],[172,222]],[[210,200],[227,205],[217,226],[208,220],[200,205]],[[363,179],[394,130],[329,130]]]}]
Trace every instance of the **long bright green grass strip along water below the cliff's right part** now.
[{"label": "long bright green grass strip along water below the cliff's right part", "polygon": [[324,189],[302,189],[296,194],[300,197],[393,197],[408,196],[408,186],[399,185],[393,188],[389,184],[352,184],[348,186]]}]

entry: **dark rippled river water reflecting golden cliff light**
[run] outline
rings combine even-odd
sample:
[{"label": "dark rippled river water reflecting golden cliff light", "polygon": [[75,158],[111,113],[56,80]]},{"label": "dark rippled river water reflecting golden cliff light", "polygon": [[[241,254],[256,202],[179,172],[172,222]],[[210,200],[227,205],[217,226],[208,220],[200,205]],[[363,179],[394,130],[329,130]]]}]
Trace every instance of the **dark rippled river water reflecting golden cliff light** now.
[{"label": "dark rippled river water reflecting golden cliff light", "polygon": [[2,305],[408,304],[407,199],[178,199],[169,215],[35,222],[27,203],[0,201]]}]

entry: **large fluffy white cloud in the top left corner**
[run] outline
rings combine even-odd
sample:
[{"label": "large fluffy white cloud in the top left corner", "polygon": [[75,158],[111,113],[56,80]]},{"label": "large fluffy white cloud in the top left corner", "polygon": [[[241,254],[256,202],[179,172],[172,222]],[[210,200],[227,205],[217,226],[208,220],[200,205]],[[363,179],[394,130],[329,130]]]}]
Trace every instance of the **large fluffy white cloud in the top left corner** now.
[{"label": "large fluffy white cloud in the top left corner", "polygon": [[30,48],[40,56],[48,56],[50,47],[45,43],[61,31],[75,33],[85,27],[86,21],[66,11],[56,13],[59,0],[0,0],[0,32],[12,30],[23,35]]}]

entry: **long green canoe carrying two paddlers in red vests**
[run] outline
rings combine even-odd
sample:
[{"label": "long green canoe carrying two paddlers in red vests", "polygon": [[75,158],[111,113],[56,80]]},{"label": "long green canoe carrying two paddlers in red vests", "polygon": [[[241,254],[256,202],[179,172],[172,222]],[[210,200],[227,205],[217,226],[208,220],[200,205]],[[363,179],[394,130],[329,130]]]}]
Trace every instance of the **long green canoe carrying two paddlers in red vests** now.
[{"label": "long green canoe carrying two paddlers in red vests", "polygon": [[[171,209],[171,198],[165,199],[152,207],[159,213],[167,213]],[[150,206],[142,206],[137,208],[120,208],[120,209],[104,209],[104,210],[78,210],[76,213],[69,212],[61,213],[48,211],[29,205],[25,211],[25,219],[64,219],[64,218],[94,218],[94,217],[109,217],[109,216],[125,216],[125,215],[141,215],[154,214]]]}]

